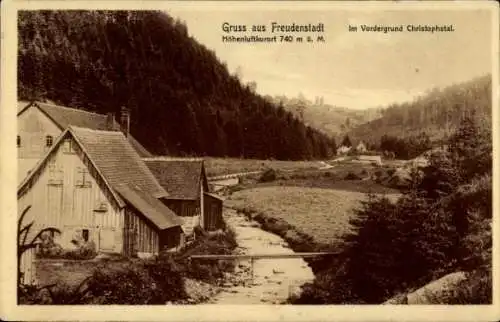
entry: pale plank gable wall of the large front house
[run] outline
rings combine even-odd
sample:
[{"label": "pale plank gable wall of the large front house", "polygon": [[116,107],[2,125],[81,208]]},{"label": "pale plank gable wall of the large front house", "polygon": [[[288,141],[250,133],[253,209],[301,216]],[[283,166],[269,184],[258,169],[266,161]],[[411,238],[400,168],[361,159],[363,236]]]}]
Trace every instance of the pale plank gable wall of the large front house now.
[{"label": "pale plank gable wall of the large front house", "polygon": [[[98,250],[121,252],[123,210],[103,192],[89,173],[83,157],[73,150],[69,152],[68,146],[62,142],[40,175],[33,179],[31,188],[19,198],[20,212],[32,206],[24,222],[35,220],[37,229],[49,226],[60,229],[63,234],[58,242],[63,248],[72,248],[71,240],[81,236],[83,229],[88,229],[89,239],[95,242]],[[86,172],[85,179],[82,170]],[[107,210],[98,211],[101,205]]]}]

